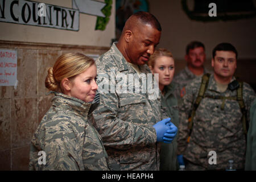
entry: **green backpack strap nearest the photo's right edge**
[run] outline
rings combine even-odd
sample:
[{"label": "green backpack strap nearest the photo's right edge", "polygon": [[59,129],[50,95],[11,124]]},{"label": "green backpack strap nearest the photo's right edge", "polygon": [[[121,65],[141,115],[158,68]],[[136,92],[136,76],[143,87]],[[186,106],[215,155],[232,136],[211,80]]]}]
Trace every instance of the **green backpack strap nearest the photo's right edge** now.
[{"label": "green backpack strap nearest the photo's right edge", "polygon": [[249,123],[247,122],[247,119],[246,119],[245,103],[243,102],[243,82],[239,82],[239,88],[237,89],[237,102],[243,114],[242,116],[243,132],[246,135]]}]

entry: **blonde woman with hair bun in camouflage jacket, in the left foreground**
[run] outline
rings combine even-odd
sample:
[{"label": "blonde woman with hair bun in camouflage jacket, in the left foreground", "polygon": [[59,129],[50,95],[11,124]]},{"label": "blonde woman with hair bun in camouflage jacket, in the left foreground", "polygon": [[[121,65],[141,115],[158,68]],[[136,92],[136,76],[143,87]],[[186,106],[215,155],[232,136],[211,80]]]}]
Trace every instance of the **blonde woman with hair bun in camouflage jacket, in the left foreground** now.
[{"label": "blonde woman with hair bun in camouflage jacket, in the left foreground", "polygon": [[[109,170],[101,137],[88,119],[96,76],[94,60],[80,53],[66,53],[48,69],[45,84],[55,97],[32,138],[30,170]],[[38,162],[39,151],[45,164]]]}]

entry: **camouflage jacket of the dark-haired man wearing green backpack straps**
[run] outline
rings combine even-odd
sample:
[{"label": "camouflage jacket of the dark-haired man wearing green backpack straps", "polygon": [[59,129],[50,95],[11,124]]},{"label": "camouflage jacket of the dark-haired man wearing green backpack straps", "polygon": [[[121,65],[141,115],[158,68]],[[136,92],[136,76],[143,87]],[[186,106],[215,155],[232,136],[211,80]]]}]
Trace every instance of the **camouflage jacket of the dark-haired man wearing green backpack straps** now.
[{"label": "camouflage jacket of the dark-haired man wearing green backpack straps", "polygon": [[[235,78],[233,77],[230,82]],[[236,97],[237,90],[226,89],[220,92],[213,75],[209,77],[205,98],[197,107],[193,118],[191,138],[189,135],[188,118],[198,95],[202,78],[196,78],[185,87],[185,95],[179,106],[180,124],[178,135],[178,154],[183,154],[189,162],[204,169],[225,169],[228,160],[234,161],[234,168],[245,166],[246,142],[242,126],[242,112],[236,100],[223,100],[214,96]],[[249,119],[249,109],[255,98],[254,90],[243,82],[243,102]],[[209,163],[209,152],[216,152],[217,163]]]}]

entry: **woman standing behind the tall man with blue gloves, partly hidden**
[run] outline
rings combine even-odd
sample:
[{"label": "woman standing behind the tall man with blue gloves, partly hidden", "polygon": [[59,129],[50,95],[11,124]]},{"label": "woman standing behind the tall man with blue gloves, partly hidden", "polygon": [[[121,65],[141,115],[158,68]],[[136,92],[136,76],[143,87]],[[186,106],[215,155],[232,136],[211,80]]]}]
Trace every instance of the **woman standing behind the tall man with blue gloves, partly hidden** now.
[{"label": "woman standing behind the tall man with blue gloves, partly hidden", "polygon": [[[176,85],[172,82],[175,66],[172,53],[164,48],[156,49],[150,56],[148,66],[152,73],[159,74],[159,89],[161,90],[162,106],[171,122],[179,125],[179,111],[175,98]],[[171,143],[162,143],[160,151],[160,170],[177,170],[177,137]]]}]

